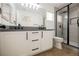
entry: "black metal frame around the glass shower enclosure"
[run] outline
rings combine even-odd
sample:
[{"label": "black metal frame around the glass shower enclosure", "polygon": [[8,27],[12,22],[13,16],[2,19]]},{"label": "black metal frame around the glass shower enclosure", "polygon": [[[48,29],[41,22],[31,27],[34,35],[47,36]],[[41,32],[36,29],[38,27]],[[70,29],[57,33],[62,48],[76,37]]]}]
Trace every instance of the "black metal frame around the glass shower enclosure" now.
[{"label": "black metal frame around the glass shower enclosure", "polygon": [[[70,19],[70,12],[69,12],[70,9],[69,8],[70,8],[70,5],[72,5],[72,3],[70,3],[70,4],[64,6],[64,7],[60,8],[60,9],[58,9],[55,12],[55,16],[56,16],[56,18],[55,18],[55,29],[56,29],[55,36],[57,36],[57,13],[58,13],[58,11],[60,11],[60,10],[62,10],[62,9],[67,7],[67,45],[70,45],[69,44],[69,19]],[[70,45],[70,46],[72,46],[72,45]],[[75,47],[75,46],[72,46],[72,47]],[[75,48],[78,48],[78,47],[75,47]]]}]

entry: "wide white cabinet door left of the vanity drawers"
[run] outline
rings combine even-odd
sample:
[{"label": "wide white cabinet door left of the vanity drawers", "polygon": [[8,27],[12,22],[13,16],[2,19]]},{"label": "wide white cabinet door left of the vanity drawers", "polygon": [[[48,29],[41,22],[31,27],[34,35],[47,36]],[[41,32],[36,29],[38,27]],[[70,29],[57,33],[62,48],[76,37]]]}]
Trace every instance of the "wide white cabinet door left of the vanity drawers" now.
[{"label": "wide white cabinet door left of the vanity drawers", "polygon": [[30,55],[27,32],[0,32],[0,55]]}]

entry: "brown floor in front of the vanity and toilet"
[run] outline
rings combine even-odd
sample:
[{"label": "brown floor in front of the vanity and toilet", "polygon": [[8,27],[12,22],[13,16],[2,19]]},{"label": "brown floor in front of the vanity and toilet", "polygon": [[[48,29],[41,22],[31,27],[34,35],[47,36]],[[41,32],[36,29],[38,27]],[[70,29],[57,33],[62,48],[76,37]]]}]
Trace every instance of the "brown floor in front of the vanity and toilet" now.
[{"label": "brown floor in front of the vanity and toilet", "polygon": [[79,56],[79,51],[74,51],[67,47],[64,47],[62,50],[53,48],[36,56]]}]

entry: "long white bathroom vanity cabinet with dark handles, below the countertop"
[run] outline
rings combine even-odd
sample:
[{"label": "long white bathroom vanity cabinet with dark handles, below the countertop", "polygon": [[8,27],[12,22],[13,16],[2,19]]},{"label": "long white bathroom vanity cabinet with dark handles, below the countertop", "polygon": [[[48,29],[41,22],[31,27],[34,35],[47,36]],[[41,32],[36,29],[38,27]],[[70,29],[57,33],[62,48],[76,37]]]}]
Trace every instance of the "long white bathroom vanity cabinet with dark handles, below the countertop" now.
[{"label": "long white bathroom vanity cabinet with dark handles, below the countertop", "polygon": [[53,48],[54,30],[0,31],[0,55],[27,56]]}]

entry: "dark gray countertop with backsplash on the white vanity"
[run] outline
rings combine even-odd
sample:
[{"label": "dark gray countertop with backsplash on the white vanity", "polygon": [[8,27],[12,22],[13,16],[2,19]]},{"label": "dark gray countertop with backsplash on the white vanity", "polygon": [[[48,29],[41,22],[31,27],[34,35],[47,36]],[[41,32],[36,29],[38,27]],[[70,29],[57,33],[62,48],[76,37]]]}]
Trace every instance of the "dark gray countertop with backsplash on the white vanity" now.
[{"label": "dark gray countertop with backsplash on the white vanity", "polygon": [[18,29],[18,27],[10,26],[10,28],[0,29],[0,32],[9,32],[9,31],[53,31],[55,29],[39,29],[39,27],[23,27],[22,29]]}]

